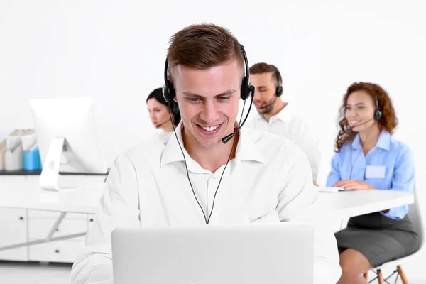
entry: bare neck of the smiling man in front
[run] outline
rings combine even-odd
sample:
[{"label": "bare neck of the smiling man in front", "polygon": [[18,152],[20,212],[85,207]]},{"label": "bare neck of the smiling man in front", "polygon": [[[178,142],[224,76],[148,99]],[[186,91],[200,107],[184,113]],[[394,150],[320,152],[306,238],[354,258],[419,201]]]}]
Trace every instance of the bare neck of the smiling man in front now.
[{"label": "bare neck of the smiling man in front", "polygon": [[[234,139],[237,139],[235,143]],[[226,144],[221,142],[216,146],[206,148],[200,145],[197,139],[193,136],[185,133],[185,130],[182,128],[182,140],[184,147],[192,160],[195,160],[195,162],[197,162],[204,170],[209,170],[214,173],[217,169],[222,167],[222,165],[226,164],[231,151],[232,154],[229,160],[235,158],[236,144],[239,141],[239,133],[236,133],[236,135]],[[233,145],[234,148],[232,148]]]}]

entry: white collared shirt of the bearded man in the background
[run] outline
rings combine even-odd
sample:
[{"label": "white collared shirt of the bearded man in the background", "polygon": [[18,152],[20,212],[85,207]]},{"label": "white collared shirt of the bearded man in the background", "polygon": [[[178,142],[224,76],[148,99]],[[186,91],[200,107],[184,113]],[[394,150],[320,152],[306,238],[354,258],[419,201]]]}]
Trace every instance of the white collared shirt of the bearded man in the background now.
[{"label": "white collared shirt of the bearded man in the background", "polygon": [[312,178],[317,180],[321,162],[320,136],[305,119],[295,114],[289,105],[287,104],[275,116],[271,116],[269,121],[266,121],[261,114],[256,114],[251,121],[247,121],[246,126],[262,129],[292,140],[307,155]]}]

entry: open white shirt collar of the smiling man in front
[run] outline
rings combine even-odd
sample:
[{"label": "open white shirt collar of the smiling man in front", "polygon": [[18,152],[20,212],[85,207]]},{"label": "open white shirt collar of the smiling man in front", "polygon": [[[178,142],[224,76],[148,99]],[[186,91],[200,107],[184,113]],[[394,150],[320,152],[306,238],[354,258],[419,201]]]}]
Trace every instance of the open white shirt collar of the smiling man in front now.
[{"label": "open white shirt collar of the smiling man in front", "polygon": [[[185,153],[188,166],[191,162],[195,163],[195,161],[190,158],[190,155],[187,153],[185,147],[183,147],[182,127],[183,125],[181,121],[180,124],[176,126],[176,135],[175,133],[171,133],[170,138],[165,144],[163,155],[160,159],[161,167],[167,165],[168,163],[184,161],[182,151]],[[244,126],[240,129],[239,134],[240,136],[238,144],[236,145],[235,160],[238,160],[239,162],[243,160],[252,160],[258,163],[265,163],[263,155],[256,147],[256,141],[258,141],[261,136],[250,135],[251,133],[246,131]],[[178,136],[178,140],[176,140],[176,136]],[[180,146],[182,147],[182,151],[180,150]]]}]

